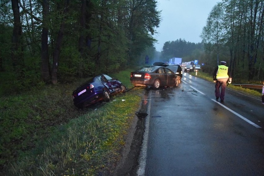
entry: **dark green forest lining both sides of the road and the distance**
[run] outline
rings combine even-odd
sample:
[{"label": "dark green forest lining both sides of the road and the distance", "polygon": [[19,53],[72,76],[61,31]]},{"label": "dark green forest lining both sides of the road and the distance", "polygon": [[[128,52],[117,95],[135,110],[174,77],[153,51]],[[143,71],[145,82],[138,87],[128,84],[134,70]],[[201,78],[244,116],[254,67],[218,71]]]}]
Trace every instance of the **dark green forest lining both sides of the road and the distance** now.
[{"label": "dark green forest lining both sides of the road and the distance", "polygon": [[[0,92],[118,72],[151,61],[199,60],[211,73],[227,61],[233,78],[263,78],[263,0],[223,0],[201,43],[167,41],[157,52],[156,0],[0,0]],[[234,80],[234,79],[233,79]]]}]

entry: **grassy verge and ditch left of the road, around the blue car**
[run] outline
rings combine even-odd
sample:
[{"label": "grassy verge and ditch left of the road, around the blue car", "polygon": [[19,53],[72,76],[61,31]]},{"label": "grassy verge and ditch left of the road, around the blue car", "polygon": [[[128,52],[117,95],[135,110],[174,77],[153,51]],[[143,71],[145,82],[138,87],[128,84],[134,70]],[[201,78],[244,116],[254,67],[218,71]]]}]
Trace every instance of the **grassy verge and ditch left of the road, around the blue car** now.
[{"label": "grassy verge and ditch left of the road, around the blue car", "polygon": [[[130,71],[111,76],[133,87]],[[0,175],[97,175],[111,168],[142,90],[80,110],[71,94],[87,79],[0,98]]]}]

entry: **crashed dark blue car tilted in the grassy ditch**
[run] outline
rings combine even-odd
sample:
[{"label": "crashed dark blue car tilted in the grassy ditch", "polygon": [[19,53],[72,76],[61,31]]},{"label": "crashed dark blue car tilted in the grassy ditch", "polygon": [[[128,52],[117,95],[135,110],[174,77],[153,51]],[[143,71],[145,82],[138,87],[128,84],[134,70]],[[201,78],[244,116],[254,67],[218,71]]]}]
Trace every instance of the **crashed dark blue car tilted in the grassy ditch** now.
[{"label": "crashed dark blue car tilted in the grassy ditch", "polygon": [[101,74],[89,79],[73,91],[73,103],[78,108],[98,101],[110,101],[110,96],[125,92],[126,87],[117,79]]}]

